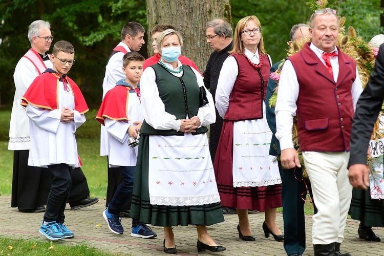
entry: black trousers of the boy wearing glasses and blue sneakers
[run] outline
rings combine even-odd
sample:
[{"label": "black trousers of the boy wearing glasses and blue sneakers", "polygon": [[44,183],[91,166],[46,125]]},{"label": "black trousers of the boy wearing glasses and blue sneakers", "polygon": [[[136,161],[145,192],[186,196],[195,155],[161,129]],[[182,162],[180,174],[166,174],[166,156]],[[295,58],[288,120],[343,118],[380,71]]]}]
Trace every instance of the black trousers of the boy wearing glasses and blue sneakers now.
[{"label": "black trousers of the boy wearing glasses and blue sneakers", "polygon": [[66,209],[72,184],[72,167],[68,166],[68,164],[60,163],[48,165],[48,169],[53,176],[53,180],[44,220],[47,222],[56,221],[57,223],[63,223],[66,218],[64,210]]}]

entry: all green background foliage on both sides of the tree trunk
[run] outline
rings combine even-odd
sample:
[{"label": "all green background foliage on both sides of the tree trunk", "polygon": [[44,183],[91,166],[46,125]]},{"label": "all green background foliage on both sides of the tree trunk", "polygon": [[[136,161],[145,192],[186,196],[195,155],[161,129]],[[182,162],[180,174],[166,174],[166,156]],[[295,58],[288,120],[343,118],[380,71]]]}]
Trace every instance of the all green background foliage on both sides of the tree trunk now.
[{"label": "all green background foliage on both sides of the tree trunk", "polygon": [[[292,25],[307,23],[309,19],[311,11],[306,2],[231,0],[233,26],[244,16],[257,15],[262,23],[265,48],[272,61],[277,62],[285,56]],[[380,0],[341,0],[336,9],[339,15],[347,18],[346,27],[353,26],[362,38],[369,41],[383,32],[380,27],[380,3]],[[54,42],[68,40],[74,45],[76,65],[71,69],[70,76],[80,86],[90,107],[98,108],[106,61],[120,41],[124,23],[136,21],[146,29],[146,2],[0,0],[0,104],[6,105],[6,108],[10,108],[14,95],[14,68],[30,48],[28,26],[36,19],[51,23]],[[201,34],[204,33],[202,31]],[[150,44],[151,41],[145,46]],[[146,56],[146,48],[143,47],[140,53]],[[205,67],[199,69],[203,71]]]}]

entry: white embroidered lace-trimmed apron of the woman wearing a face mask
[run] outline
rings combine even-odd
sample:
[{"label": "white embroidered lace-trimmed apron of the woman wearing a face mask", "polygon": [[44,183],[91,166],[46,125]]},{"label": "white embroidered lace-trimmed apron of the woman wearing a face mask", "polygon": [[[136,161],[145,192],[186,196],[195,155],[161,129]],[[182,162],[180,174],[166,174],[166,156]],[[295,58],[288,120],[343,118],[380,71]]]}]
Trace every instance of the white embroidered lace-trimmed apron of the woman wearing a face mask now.
[{"label": "white embroidered lace-trimmed apron of the woman wearing a face mask", "polygon": [[206,134],[150,136],[148,176],[152,205],[220,202]]}]

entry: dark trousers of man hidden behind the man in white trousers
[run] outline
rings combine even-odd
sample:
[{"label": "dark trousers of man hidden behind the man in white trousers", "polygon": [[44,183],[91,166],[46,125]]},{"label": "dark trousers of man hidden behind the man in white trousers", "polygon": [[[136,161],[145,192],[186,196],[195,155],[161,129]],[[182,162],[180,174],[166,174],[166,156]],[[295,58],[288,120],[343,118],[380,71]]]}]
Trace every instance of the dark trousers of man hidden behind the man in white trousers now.
[{"label": "dark trousers of man hidden behind the man in white trousers", "polygon": [[[305,250],[305,215],[304,199],[307,197],[307,187],[312,195],[311,184],[307,186],[302,181],[302,168],[284,169],[278,161],[282,180],[282,201],[284,220],[284,249],[287,254],[303,254]],[[315,213],[317,212],[313,204]]]}]

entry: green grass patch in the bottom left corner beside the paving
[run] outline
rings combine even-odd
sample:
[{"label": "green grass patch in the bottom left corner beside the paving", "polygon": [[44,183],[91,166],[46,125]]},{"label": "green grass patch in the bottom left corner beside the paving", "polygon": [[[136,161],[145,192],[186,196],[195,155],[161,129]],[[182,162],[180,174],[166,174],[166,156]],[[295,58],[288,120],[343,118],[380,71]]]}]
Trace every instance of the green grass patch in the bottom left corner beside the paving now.
[{"label": "green grass patch in the bottom left corner beside the paving", "polygon": [[110,256],[122,255],[90,248],[86,245],[68,246],[60,242],[39,242],[37,240],[9,239],[0,237],[0,255],[93,255]]}]

